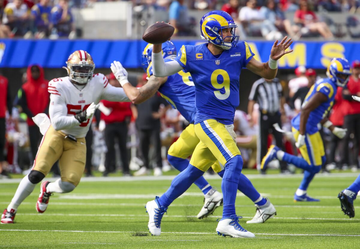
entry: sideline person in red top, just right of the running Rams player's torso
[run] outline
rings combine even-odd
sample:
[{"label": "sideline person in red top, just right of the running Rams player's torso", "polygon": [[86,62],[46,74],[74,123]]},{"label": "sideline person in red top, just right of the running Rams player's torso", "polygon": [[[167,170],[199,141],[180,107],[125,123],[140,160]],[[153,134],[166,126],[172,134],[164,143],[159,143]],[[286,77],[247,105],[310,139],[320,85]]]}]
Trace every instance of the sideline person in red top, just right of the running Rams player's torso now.
[{"label": "sideline person in red top, just right of the running Rams player's torso", "polygon": [[[347,110],[347,103],[344,101],[342,97],[342,87],[338,87],[336,95],[335,95],[335,104],[333,106],[333,109],[331,111],[329,120],[333,123],[334,126],[342,128],[344,125],[344,117]],[[340,142],[341,139],[338,138],[333,133],[330,134],[331,140],[330,140],[330,151],[327,156],[328,165],[326,166],[327,170],[333,170],[336,168],[336,162],[335,162],[335,154],[337,148],[342,148]],[[343,152],[345,153],[345,151]]]}]

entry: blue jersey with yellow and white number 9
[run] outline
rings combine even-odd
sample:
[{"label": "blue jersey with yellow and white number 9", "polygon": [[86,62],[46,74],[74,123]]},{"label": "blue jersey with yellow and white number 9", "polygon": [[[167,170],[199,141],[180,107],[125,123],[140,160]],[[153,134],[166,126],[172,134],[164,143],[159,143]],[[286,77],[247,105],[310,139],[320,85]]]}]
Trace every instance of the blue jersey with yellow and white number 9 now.
[{"label": "blue jersey with yellow and white number 9", "polygon": [[222,51],[220,56],[211,54],[207,45],[184,45],[175,58],[195,84],[195,124],[207,119],[232,124],[239,105],[240,72],[254,54],[246,42]]}]

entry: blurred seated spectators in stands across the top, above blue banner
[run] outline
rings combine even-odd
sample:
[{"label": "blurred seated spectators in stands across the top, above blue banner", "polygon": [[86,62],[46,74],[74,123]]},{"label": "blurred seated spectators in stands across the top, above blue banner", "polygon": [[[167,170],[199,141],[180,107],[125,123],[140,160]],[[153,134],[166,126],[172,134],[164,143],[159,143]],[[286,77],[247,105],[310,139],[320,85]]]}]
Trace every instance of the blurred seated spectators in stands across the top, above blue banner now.
[{"label": "blurred seated spectators in stands across the top, above blue banner", "polygon": [[[108,1],[108,0],[100,0]],[[91,8],[96,0],[0,0],[0,38],[74,38],[81,36],[75,29],[72,9]],[[129,1],[130,2],[130,1]],[[274,40],[288,34],[300,37],[360,37],[360,0],[132,0],[134,10],[161,11],[175,27],[174,36],[197,36],[198,10],[221,9],[237,22],[241,39],[264,37]],[[135,11],[136,12],[136,11]],[[345,20],[336,20],[329,12],[344,13]],[[153,15],[156,12],[152,12]],[[289,15],[290,13],[290,15]],[[147,14],[148,15],[148,14]],[[135,18],[135,17],[134,17]],[[143,17],[145,18],[145,17]],[[149,18],[147,16],[146,18]],[[136,19],[136,18],[135,18]],[[146,20],[146,19],[145,19]],[[139,20],[144,22],[143,19]],[[134,23],[136,23],[135,20]],[[141,24],[143,25],[143,24]]]}]

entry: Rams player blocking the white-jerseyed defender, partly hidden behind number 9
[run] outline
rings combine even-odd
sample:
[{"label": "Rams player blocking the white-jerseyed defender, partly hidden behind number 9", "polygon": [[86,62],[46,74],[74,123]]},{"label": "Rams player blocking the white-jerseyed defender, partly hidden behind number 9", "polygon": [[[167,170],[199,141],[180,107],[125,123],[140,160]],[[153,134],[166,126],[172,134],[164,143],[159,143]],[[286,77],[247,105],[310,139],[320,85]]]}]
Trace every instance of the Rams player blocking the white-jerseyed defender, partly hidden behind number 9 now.
[{"label": "Rams player blocking the white-jerseyed defender, partly hidden behind number 9", "polygon": [[[156,90],[177,109],[181,115],[189,121],[189,126],[181,133],[180,138],[173,143],[168,151],[168,161],[177,170],[183,171],[188,167],[187,159],[194,152],[195,147],[200,142],[195,134],[194,119],[196,114],[195,108],[195,86],[190,73],[183,70],[169,77],[157,78],[153,76],[151,65],[152,45],[148,44],[143,51],[143,67],[148,74],[148,82],[141,88],[136,88],[128,84],[126,70],[121,63],[114,61],[112,68],[113,73],[119,76],[127,96],[133,103],[141,103],[151,97]],[[163,43],[162,54],[166,61],[176,57],[176,48],[170,41]],[[174,56],[175,55],[175,56]],[[120,76],[123,78],[121,79]],[[216,161],[212,169],[221,177],[224,175],[224,166]],[[197,215],[201,219],[210,215],[216,207],[222,203],[222,194],[211,187],[203,176],[194,182],[204,193],[204,206]],[[240,175],[238,189],[249,197],[256,206],[256,214],[252,220],[247,223],[263,223],[276,214],[276,209],[267,198],[264,198],[257,192],[251,181],[243,174]]]}]

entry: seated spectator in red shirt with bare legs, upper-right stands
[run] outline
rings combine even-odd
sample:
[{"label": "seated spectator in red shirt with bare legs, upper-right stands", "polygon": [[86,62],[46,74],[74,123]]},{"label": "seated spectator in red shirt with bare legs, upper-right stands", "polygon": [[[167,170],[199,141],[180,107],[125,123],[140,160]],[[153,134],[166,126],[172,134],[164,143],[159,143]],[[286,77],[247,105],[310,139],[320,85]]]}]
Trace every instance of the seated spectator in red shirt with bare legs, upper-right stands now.
[{"label": "seated spectator in red shirt with bare legs, upper-right stands", "polygon": [[333,40],[333,33],[324,22],[319,22],[314,11],[309,9],[307,0],[300,1],[300,9],[295,11],[294,23],[309,29],[310,32],[319,33],[327,40]]}]

